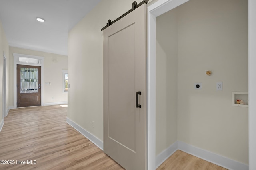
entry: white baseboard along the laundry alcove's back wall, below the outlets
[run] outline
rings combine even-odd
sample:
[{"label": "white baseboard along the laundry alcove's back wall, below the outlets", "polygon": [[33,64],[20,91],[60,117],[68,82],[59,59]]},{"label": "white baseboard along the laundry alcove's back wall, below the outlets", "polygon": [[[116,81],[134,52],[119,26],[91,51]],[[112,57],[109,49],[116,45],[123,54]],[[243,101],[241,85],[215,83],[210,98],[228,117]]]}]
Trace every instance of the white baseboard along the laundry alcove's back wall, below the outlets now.
[{"label": "white baseboard along the laundry alcove's back wall, below the outlets", "polygon": [[206,160],[208,162],[211,162],[213,164],[216,164],[218,166],[222,166],[223,168],[226,168],[229,170],[248,170],[249,169],[249,166],[246,164],[242,164],[240,162],[231,160],[229,158],[220,156],[218,154],[209,152],[207,150],[200,149],[192,145],[188,145],[182,141],[178,141],[178,149],[188,154],[194,155],[198,158],[201,158],[203,160]]}]

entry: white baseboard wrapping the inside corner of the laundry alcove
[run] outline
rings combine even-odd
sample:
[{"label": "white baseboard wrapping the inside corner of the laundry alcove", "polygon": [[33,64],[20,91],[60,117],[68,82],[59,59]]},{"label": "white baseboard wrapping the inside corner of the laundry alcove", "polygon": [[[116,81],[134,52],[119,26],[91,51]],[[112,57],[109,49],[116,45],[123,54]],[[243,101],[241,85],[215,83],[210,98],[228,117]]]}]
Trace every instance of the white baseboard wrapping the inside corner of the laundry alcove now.
[{"label": "white baseboard wrapping the inside corner of the laundry alcove", "polygon": [[176,141],[174,144],[156,156],[156,168],[158,168],[158,166],[168,159],[176,150],[181,150],[229,170],[249,170],[249,166],[246,164],[231,160],[198,147],[194,147],[192,145],[188,145],[182,141]]}]

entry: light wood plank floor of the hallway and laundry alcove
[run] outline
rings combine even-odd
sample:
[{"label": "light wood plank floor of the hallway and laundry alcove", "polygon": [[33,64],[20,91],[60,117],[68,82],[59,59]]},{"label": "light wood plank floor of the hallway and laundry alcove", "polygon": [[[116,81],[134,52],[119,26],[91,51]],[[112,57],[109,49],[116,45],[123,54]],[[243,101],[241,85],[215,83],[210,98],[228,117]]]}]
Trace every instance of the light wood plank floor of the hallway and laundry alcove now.
[{"label": "light wood plank floor of the hallway and laundry alcove", "polygon": [[[10,110],[0,133],[0,160],[14,164],[0,164],[0,170],[123,170],[68,125],[66,116],[67,107],[59,105]],[[28,164],[30,160],[36,164]],[[224,168],[178,150],[158,170]]]}]

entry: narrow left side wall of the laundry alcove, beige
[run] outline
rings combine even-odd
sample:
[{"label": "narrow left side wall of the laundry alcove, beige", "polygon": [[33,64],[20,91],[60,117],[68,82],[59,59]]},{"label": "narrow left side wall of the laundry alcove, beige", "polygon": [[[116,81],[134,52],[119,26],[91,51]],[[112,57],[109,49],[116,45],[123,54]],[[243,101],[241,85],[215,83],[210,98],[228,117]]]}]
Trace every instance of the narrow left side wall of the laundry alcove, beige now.
[{"label": "narrow left side wall of the laundry alcove, beige", "polygon": [[156,155],[177,141],[177,10],[156,18]]}]

